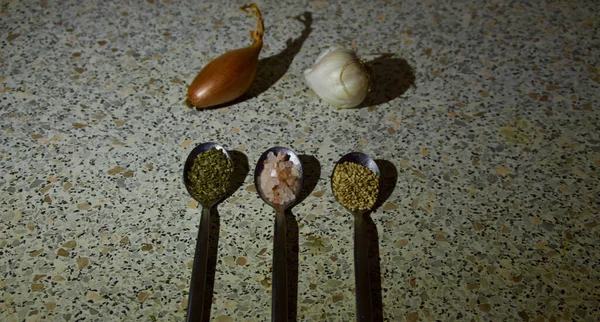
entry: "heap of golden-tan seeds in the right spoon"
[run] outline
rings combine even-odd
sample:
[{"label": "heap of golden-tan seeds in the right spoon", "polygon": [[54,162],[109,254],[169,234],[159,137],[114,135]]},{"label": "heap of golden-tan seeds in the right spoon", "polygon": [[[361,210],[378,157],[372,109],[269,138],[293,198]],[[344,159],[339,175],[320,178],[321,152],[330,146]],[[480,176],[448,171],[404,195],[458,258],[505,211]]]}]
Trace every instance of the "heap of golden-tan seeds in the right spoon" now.
[{"label": "heap of golden-tan seeds in the right spoon", "polygon": [[353,162],[340,163],[333,172],[333,193],[346,208],[371,209],[379,193],[379,176]]}]

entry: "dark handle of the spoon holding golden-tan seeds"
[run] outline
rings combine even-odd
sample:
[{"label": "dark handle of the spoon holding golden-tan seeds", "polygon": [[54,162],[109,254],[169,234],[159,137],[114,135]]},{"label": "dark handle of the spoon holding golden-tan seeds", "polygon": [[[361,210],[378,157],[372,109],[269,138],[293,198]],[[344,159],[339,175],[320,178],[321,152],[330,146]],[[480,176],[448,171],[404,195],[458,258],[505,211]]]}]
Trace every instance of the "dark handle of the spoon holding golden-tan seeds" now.
[{"label": "dark handle of the spoon holding golden-tan seeds", "polygon": [[354,216],[354,277],[356,279],[356,311],[358,322],[373,321],[371,282],[369,275],[369,239],[364,215]]}]

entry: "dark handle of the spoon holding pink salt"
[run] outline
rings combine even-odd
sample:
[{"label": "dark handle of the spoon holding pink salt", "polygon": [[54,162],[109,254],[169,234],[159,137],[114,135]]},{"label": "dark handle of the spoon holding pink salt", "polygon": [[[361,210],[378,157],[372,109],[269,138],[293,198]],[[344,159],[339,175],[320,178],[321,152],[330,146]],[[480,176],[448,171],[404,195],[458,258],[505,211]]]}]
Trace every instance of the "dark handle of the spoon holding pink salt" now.
[{"label": "dark handle of the spoon holding pink salt", "polygon": [[273,299],[271,321],[288,320],[287,232],[285,212],[277,210],[273,236]]}]

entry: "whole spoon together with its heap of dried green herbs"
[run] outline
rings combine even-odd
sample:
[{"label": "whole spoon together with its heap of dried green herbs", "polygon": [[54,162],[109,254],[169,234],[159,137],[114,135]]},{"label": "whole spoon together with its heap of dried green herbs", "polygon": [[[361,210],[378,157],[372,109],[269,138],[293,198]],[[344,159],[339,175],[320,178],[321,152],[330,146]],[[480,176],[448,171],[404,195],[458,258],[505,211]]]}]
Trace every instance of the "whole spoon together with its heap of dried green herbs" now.
[{"label": "whole spoon together with its heap of dried green herbs", "polygon": [[202,206],[198,228],[194,266],[188,295],[187,321],[204,321],[206,303],[206,271],[211,209],[226,195],[231,183],[233,162],[216,143],[203,143],[190,152],[183,167],[183,182],[188,193]]}]

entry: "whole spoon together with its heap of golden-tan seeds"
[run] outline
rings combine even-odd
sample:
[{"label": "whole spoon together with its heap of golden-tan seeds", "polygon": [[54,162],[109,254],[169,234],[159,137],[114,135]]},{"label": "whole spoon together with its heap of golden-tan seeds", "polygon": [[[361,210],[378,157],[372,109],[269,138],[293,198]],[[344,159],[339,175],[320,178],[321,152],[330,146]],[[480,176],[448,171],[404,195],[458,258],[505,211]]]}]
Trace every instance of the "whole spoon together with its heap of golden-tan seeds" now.
[{"label": "whole spoon together with its heap of golden-tan seeds", "polygon": [[354,215],[354,277],[358,322],[373,321],[369,275],[369,240],[365,216],[379,195],[381,173],[371,157],[360,152],[344,155],[333,168],[331,188],[335,199]]}]

